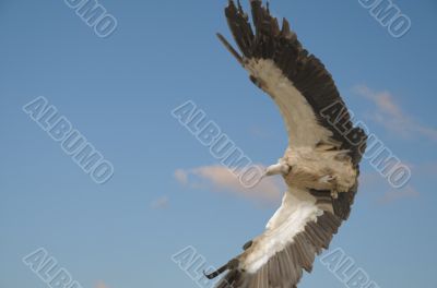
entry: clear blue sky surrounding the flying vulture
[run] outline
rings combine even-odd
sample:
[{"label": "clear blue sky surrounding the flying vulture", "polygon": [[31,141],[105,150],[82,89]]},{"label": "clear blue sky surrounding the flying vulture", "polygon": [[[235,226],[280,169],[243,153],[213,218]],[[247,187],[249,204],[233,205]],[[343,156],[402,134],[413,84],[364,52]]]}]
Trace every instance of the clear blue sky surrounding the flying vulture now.
[{"label": "clear blue sky surrounding the flying vulture", "polygon": [[[215,38],[229,35],[226,1],[101,4],[118,21],[105,39],[64,1],[0,2],[1,288],[46,287],[21,261],[40,247],[84,288],[193,287],[174,253],[192,245],[223,264],[279,205],[193,172],[218,161],[170,115],[192,100],[253,161],[270,165],[284,152],[273,103]],[[275,0],[271,8],[413,171],[406,189],[393,190],[364,163],[352,217],[332,248],[380,287],[435,288],[437,5],[395,4],[412,20],[400,39],[358,1]],[[38,96],[113,163],[110,181],[94,183],[23,112]],[[343,286],[317,262],[299,287],[321,285]]]}]

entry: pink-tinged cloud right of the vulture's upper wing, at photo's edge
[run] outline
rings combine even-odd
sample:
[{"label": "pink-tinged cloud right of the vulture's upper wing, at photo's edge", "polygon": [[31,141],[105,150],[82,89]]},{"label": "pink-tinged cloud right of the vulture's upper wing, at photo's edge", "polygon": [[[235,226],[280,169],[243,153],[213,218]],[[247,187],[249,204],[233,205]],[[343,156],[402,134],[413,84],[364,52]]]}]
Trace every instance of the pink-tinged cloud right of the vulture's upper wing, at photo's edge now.
[{"label": "pink-tinged cloud right of the vulture's upper wing, at photo's edge", "polygon": [[388,131],[404,137],[423,136],[437,142],[437,130],[405,113],[389,92],[375,92],[364,85],[354,87],[354,92],[375,104],[377,109],[371,117]]}]

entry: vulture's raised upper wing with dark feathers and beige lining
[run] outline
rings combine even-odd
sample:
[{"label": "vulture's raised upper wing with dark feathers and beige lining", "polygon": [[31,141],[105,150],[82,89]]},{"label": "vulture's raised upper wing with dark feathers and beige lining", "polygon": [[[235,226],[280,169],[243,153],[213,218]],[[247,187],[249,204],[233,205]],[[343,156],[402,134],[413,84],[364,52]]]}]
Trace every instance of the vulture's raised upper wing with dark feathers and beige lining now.
[{"label": "vulture's raised upper wing with dark feathers and beige lining", "polygon": [[359,144],[366,135],[354,129],[331,74],[303,48],[286,20],[280,28],[260,0],[250,3],[255,33],[239,2],[236,7],[231,0],[225,10],[243,56],[222,35],[218,37],[249,72],[251,81],[280,108],[290,147],[328,145],[349,151],[353,161],[359,163]]}]

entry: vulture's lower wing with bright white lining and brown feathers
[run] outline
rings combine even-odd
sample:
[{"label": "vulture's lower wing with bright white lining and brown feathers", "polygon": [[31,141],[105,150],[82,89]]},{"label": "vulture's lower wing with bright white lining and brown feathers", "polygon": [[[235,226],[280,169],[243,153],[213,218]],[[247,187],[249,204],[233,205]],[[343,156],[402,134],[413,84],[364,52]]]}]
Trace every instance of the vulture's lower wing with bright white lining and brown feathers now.
[{"label": "vulture's lower wing with bright white lining and brown feathers", "polygon": [[217,288],[290,288],[328,249],[341,219],[307,190],[291,189],[267,230],[238,257]]}]

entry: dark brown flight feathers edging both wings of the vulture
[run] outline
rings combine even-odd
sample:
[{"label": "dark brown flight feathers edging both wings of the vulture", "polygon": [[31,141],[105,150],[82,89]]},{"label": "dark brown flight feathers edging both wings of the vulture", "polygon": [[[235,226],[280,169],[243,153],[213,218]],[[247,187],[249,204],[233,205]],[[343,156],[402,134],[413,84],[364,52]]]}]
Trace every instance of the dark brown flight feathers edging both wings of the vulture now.
[{"label": "dark brown flight feathers edging both wings of the vulture", "polygon": [[[320,60],[303,48],[296,34],[290,29],[286,20],[280,27],[277,20],[271,16],[260,0],[250,2],[255,33],[249,17],[243,11],[239,2],[238,5],[235,5],[231,0],[225,10],[229,28],[243,56],[239,56],[222,36],[221,40],[243,64],[247,59],[272,60],[306,98],[317,116],[319,124],[332,132],[333,142],[340,143],[336,148],[349,151],[353,164],[358,169],[367,136],[362,129],[353,127],[351,116],[340,97],[331,74]],[[321,116],[321,110],[332,103],[339,103],[345,110],[336,124],[349,130],[347,134],[341,133],[336,127]],[[351,135],[354,140],[359,140],[359,145],[354,145],[356,141],[351,141]],[[356,190],[357,184],[350,193],[341,193],[336,200],[332,200],[328,191],[311,191],[318,201],[317,204],[324,213],[315,221],[308,223],[304,231],[296,235],[287,247],[274,254],[256,273],[249,274],[238,267],[232,268],[217,287],[296,288],[303,271],[310,272],[312,269],[316,255],[320,254],[323,249],[328,249],[342,220],[347,219]],[[324,208],[327,203],[332,204],[333,213]]]}]

